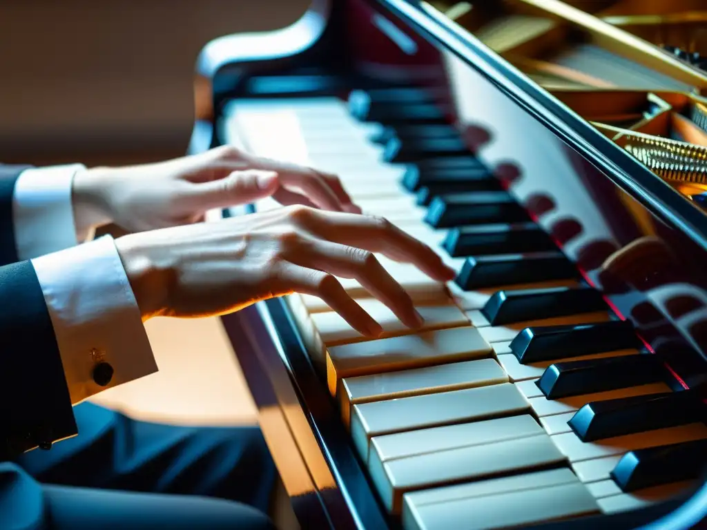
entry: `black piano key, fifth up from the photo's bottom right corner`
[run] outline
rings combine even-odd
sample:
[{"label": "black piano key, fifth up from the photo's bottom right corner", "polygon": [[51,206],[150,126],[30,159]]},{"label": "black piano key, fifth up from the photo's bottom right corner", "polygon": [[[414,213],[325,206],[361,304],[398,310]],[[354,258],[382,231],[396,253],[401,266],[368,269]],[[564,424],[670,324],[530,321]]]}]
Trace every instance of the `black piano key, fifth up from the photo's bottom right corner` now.
[{"label": "black piano key, fifth up from the photo's bottom right corner", "polygon": [[481,313],[491,326],[500,326],[601,310],[609,310],[602,294],[595,288],[583,285],[576,288],[500,290],[493,293]]}]

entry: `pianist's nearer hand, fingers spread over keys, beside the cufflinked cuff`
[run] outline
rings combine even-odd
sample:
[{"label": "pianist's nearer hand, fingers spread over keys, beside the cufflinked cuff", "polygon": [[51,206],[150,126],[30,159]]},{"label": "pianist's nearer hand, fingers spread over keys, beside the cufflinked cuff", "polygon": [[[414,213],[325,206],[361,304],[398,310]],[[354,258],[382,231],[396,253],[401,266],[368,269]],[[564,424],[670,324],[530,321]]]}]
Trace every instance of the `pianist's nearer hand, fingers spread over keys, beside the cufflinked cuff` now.
[{"label": "pianist's nearer hand, fingers spread over keys, beside the cufflinked cuff", "polygon": [[455,276],[430,247],[386,220],[307,206],[134,233],[116,245],[144,319],[224,314],[297,292],[322,298],[354,329],[378,336],[380,325],[334,276],[356,278],[411,327],[422,324],[411,298],[372,253],[439,281]]}]

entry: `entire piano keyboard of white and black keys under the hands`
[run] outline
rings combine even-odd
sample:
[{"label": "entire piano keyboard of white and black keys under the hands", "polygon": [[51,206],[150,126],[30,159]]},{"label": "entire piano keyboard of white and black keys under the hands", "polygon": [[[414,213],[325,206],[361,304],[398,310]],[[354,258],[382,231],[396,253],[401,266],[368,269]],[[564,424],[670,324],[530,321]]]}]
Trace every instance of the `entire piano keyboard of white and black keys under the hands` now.
[{"label": "entire piano keyboard of white and black keys under the hands", "polygon": [[665,384],[631,326],[428,95],[237,100],[221,124],[224,143],[336,172],[364,213],[458,272],[443,285],[380,257],[423,315],[419,331],[340,278],[382,325],[373,341],[322,300],[288,297],[380,502],[406,530],[472,529],[621,512],[684,492],[707,464],[701,403]]}]

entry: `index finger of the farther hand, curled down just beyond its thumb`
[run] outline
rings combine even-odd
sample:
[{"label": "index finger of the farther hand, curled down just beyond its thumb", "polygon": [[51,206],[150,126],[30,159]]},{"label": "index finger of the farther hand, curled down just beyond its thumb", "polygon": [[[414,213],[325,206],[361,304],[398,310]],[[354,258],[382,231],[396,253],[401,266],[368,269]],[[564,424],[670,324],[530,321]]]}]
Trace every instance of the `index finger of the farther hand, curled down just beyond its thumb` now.
[{"label": "index finger of the farther hand, curled down just beyond its thumb", "polygon": [[276,172],[280,175],[281,184],[299,189],[312,203],[322,209],[344,211],[339,198],[325,178],[309,167],[259,157],[248,157],[247,163],[255,169]]}]

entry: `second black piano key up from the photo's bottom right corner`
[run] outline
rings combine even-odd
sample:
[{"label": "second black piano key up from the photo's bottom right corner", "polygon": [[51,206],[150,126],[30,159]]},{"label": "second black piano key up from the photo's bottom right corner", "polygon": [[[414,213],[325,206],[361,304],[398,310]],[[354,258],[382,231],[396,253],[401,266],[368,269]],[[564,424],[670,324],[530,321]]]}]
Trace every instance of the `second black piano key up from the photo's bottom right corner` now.
[{"label": "second black piano key up from the photo's bottom right corner", "polygon": [[704,405],[694,391],[593,401],[567,424],[583,442],[701,422]]}]

